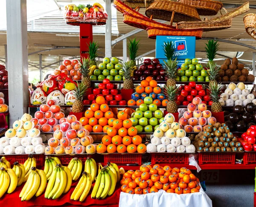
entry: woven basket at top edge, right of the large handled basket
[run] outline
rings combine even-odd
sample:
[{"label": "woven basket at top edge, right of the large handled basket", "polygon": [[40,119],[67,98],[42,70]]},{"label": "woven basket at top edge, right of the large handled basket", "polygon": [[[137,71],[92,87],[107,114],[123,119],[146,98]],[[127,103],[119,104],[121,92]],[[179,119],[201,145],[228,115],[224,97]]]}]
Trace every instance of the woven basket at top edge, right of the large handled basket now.
[{"label": "woven basket at top edge, right of the large handled basket", "polygon": [[223,6],[222,2],[212,0],[177,0],[177,2],[195,7],[198,14],[203,16],[214,16]]}]

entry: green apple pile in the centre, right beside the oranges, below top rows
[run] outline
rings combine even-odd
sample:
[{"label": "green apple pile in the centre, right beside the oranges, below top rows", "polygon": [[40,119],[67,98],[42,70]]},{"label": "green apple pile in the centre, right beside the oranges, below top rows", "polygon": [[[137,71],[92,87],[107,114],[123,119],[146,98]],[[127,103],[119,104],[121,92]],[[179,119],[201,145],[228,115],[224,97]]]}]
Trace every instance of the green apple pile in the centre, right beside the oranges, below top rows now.
[{"label": "green apple pile in the centre, right beside the oranges, below top rows", "polygon": [[[148,99],[150,103],[150,99]],[[157,109],[157,105],[144,102],[131,114],[132,125],[137,129],[138,133],[153,132],[164,121],[163,112]]]}]

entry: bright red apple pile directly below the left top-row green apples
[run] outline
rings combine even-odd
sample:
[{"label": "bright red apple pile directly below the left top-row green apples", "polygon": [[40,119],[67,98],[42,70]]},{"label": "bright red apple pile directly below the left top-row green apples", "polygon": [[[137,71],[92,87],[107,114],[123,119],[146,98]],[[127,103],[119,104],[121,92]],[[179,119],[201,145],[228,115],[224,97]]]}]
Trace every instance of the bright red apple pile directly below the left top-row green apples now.
[{"label": "bright red apple pile directly below the left top-row green apples", "polygon": [[102,83],[99,83],[99,88],[93,89],[93,94],[87,96],[88,100],[84,100],[84,105],[90,105],[96,103],[97,96],[103,96],[105,103],[108,105],[126,105],[127,102],[123,100],[121,91],[117,90],[117,85],[111,83],[109,79],[103,79]]}]

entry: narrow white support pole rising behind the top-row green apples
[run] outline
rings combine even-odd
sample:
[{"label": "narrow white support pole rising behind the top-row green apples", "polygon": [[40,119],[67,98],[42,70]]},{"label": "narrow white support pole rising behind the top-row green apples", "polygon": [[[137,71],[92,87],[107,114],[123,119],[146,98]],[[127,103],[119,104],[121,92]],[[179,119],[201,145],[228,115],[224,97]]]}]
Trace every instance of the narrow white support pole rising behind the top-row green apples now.
[{"label": "narrow white support pole rising behind the top-row green apples", "polygon": [[108,14],[108,20],[106,23],[105,31],[105,57],[112,57],[111,47],[111,0],[105,0],[106,12]]}]

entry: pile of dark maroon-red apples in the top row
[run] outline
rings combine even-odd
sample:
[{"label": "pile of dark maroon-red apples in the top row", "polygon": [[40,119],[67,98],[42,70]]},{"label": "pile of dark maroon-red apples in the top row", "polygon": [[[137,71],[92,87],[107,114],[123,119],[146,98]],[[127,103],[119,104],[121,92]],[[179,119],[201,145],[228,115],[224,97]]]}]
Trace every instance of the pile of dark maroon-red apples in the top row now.
[{"label": "pile of dark maroon-red apples in the top row", "polygon": [[160,64],[157,58],[153,60],[145,59],[143,65],[140,65],[140,68],[134,71],[133,80],[145,80],[148,76],[157,81],[168,79],[164,75],[163,65]]}]

